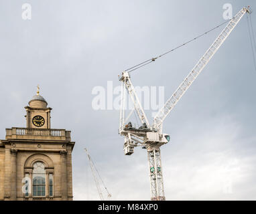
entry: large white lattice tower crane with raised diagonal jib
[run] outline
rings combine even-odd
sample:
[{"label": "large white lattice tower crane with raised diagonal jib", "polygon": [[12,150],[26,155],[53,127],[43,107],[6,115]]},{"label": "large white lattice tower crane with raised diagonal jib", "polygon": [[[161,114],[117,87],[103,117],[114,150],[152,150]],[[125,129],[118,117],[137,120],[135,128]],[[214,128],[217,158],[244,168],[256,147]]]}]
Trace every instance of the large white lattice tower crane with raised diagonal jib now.
[{"label": "large white lattice tower crane with raised diagonal jib", "polygon": [[[125,155],[131,155],[133,154],[136,146],[142,146],[142,148],[147,149],[152,201],[166,200],[164,194],[160,147],[170,141],[170,135],[162,132],[163,122],[168,114],[170,114],[170,111],[174,108],[174,106],[176,106],[180,98],[191,86],[192,82],[194,82],[206,64],[208,64],[212,56],[214,56],[216,51],[220,48],[222,43],[224,43],[227,37],[229,37],[230,33],[236,27],[237,23],[239,23],[243,15],[245,15],[245,13],[251,13],[249,7],[243,7],[243,9],[241,9],[241,11],[239,11],[239,13],[237,13],[237,15],[235,15],[235,17],[229,21],[225,29],[221,31],[212,45],[210,45],[205,54],[202,56],[202,58],[200,58],[188,76],[186,76],[174,94],[172,94],[172,96],[167,100],[166,104],[164,104],[159,112],[157,112],[153,118],[153,124],[149,124],[149,121],[147,120],[147,116],[141,107],[141,103],[139,102],[139,98],[131,82],[129,72],[122,72],[121,76],[119,76],[119,81],[121,81],[119,134],[125,138],[123,150]],[[155,58],[152,58],[151,60],[155,61]],[[127,91],[129,94],[129,97],[134,105],[133,110],[127,116],[125,114],[125,105],[127,102],[125,91]],[[131,122],[127,123],[133,111],[135,111],[137,116],[139,116],[139,120],[141,122],[141,126],[139,128],[133,127]]]}]

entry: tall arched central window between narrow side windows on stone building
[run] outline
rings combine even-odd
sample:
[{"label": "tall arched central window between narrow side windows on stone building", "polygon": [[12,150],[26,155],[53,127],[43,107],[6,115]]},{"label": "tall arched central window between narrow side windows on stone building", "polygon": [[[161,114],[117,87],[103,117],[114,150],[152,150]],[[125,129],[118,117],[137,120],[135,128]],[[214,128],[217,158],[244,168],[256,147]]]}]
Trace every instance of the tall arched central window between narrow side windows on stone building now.
[{"label": "tall arched central window between narrow side windows on stone building", "polygon": [[33,165],[33,196],[46,196],[46,170],[44,163],[38,161]]}]

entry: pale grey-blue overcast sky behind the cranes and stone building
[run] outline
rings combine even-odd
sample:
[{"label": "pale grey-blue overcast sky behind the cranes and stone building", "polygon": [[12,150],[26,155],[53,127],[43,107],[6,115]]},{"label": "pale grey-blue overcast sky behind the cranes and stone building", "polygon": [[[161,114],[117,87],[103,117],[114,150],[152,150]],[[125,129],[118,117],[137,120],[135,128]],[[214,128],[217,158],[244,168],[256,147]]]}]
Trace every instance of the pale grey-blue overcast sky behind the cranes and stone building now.
[{"label": "pale grey-blue overcast sky behind the cranes and stone building", "polygon": [[[31,20],[21,17],[23,3]],[[119,111],[94,110],[92,90],[119,86],[122,70],[222,23],[225,3],[233,15],[246,5],[256,11],[253,0],[0,0],[0,138],[25,127],[23,107],[40,84],[52,128],[72,130],[76,142],[74,199],[99,199],[85,146],[112,200],[150,199],[146,150],[123,154]],[[255,25],[255,13],[251,19]],[[133,72],[133,84],[164,86],[167,100],[220,31]],[[165,120],[167,200],[256,199],[255,79],[245,15]]]}]

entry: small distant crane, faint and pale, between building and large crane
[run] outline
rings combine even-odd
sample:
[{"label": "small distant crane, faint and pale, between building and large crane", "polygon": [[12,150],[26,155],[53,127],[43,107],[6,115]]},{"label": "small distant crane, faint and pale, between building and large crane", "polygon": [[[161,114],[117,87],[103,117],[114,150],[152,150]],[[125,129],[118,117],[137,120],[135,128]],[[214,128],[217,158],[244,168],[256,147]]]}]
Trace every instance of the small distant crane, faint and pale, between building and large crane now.
[{"label": "small distant crane, faint and pale, between building and large crane", "polygon": [[[86,151],[86,154],[87,154],[87,157],[88,157],[88,160],[89,160],[89,163],[90,163],[90,169],[92,170],[92,175],[93,175],[93,178],[94,178],[94,181],[95,181],[95,184],[96,184],[96,187],[97,187],[97,190],[98,190],[99,197],[100,197],[101,201],[105,201],[105,198],[103,197],[103,193],[101,191],[101,186],[100,186],[99,181],[97,179],[97,175],[98,175],[99,179],[101,180],[101,183],[103,184],[103,186],[105,188],[105,191],[107,192],[107,199],[110,199],[111,194],[109,193],[105,183],[103,182],[103,179],[101,178],[101,175],[100,175],[99,171],[95,167],[95,165],[92,161],[92,158],[90,157],[90,154],[88,153],[87,148],[84,148],[84,150]],[[96,175],[95,171],[96,171],[97,175]]]}]

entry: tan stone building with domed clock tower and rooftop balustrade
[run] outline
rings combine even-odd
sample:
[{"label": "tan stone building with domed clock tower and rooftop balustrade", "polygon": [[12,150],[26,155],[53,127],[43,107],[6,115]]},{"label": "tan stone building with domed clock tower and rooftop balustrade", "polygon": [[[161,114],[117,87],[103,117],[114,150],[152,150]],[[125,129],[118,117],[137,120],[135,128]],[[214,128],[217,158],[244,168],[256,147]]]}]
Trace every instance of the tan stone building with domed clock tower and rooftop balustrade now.
[{"label": "tan stone building with domed clock tower and rooftop balustrade", "polygon": [[0,200],[72,200],[70,131],[51,128],[39,94],[25,107],[26,128],[7,128],[0,140]]}]

